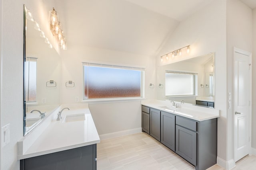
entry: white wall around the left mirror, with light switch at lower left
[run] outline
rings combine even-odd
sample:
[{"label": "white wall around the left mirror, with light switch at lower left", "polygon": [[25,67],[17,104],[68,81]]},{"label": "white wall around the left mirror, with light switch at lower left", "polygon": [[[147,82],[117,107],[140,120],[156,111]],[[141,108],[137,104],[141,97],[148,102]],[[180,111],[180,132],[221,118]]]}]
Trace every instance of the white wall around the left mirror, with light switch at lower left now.
[{"label": "white wall around the left mirror, with light switch at lower left", "polygon": [[[10,143],[1,145],[1,169],[19,170],[17,141],[23,136],[23,4],[37,14],[34,18],[48,30],[51,0],[4,0],[2,9],[1,126],[10,124]],[[47,16],[47,17],[43,17]],[[46,32],[47,33],[47,32]],[[50,37],[50,36],[48,36]],[[55,46],[56,43],[53,42]]]}]

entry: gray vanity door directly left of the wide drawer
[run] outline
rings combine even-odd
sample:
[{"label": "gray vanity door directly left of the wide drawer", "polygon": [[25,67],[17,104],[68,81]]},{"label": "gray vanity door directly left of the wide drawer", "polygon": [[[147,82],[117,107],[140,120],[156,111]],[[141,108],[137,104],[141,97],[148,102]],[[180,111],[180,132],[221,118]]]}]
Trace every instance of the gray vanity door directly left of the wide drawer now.
[{"label": "gray vanity door directly left of the wide drawer", "polygon": [[175,116],[161,111],[161,143],[175,151]]}]

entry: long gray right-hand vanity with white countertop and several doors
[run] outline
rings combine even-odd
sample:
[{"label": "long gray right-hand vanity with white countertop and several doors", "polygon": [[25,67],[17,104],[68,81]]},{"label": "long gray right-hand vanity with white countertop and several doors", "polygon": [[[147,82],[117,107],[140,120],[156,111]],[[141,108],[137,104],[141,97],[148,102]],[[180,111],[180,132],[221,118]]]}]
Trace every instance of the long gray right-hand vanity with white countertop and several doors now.
[{"label": "long gray right-hand vanity with white countertop and several doors", "polygon": [[[170,102],[142,101],[142,131],[195,166],[205,170],[216,164],[219,111]],[[148,130],[149,129],[149,130]]]}]

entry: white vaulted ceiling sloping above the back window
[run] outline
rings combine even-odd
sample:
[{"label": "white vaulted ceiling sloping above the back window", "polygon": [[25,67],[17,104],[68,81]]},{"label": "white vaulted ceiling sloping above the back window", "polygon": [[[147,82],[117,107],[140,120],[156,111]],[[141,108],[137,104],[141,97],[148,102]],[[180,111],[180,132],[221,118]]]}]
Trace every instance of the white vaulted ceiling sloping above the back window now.
[{"label": "white vaulted ceiling sloping above the back window", "polygon": [[[68,46],[149,56],[159,53],[181,21],[212,1],[59,0]],[[256,0],[242,1],[255,5]]]}]

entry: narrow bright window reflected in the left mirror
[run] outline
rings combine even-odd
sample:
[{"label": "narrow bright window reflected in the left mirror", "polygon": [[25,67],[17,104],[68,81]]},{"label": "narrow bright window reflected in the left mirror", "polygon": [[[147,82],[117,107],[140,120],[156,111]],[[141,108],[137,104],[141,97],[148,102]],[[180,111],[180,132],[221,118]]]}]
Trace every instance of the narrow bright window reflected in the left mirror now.
[{"label": "narrow bright window reflected in the left mirror", "polygon": [[27,57],[25,64],[26,102],[36,102],[36,59]]}]

